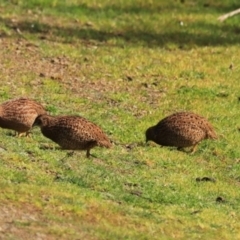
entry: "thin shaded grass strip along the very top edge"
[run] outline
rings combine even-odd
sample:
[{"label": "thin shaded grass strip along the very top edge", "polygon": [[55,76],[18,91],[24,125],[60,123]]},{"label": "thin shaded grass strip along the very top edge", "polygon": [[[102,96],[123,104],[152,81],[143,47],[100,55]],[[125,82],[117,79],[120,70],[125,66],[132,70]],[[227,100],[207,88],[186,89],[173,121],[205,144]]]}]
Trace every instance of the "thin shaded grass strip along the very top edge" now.
[{"label": "thin shaded grass strip along the very top edge", "polygon": [[[9,2],[5,0],[5,2]],[[14,4],[12,4],[14,5]],[[101,4],[101,2],[96,4],[86,4],[86,3],[76,3],[68,4],[65,1],[57,1],[53,4],[52,1],[36,1],[28,3],[23,2],[23,9],[38,9],[40,11],[45,11],[46,9],[51,9],[57,13],[68,13],[68,14],[80,14],[84,13],[86,15],[99,16],[104,14],[108,17],[119,16],[122,14],[154,14],[172,11],[181,11],[189,13],[197,12],[218,12],[219,14],[228,11],[233,11],[239,8],[238,0],[228,0],[228,1],[189,1],[189,0],[170,0],[170,1],[135,1],[133,3],[125,1],[124,3],[111,1],[108,4]]]}]

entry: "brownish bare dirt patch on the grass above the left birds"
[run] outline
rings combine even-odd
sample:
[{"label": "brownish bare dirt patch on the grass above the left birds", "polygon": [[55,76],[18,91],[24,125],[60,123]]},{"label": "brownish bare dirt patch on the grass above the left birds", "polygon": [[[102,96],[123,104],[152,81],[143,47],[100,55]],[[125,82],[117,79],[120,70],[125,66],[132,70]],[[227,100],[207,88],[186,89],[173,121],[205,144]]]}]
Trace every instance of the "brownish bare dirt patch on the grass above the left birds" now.
[{"label": "brownish bare dirt patch on the grass above the left birds", "polygon": [[[54,48],[54,43],[49,44]],[[87,60],[80,62],[79,59],[65,55],[45,57],[37,44],[24,38],[0,38],[0,77],[11,88],[13,96],[19,97],[18,88],[29,87],[33,90],[32,97],[39,94],[44,98],[41,86],[46,79],[52,79],[76,97],[107,102],[113,106],[121,105],[123,109],[141,116],[146,113],[139,112],[132,104],[122,105],[122,102],[112,99],[109,94],[129,93],[134,95],[136,101],[149,104],[152,108],[158,107],[161,96],[165,94],[165,89],[159,90],[157,87],[161,76],[138,76],[137,80],[135,76],[112,79],[109,74],[103,73],[101,79],[92,79],[86,74],[93,71],[96,69]],[[149,77],[157,81],[144,82]]]}]

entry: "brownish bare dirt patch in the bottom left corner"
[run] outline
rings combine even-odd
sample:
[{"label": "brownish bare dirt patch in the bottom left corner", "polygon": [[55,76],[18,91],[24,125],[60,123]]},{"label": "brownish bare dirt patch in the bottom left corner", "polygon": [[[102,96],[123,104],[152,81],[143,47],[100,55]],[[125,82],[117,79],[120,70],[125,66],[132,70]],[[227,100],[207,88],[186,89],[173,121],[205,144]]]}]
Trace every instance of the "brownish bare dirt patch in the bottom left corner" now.
[{"label": "brownish bare dirt patch in the bottom left corner", "polygon": [[[42,210],[30,204],[0,203],[0,239],[17,240],[96,240],[88,233],[85,222],[66,212],[56,213],[49,219]],[[88,223],[86,223],[88,224]]]}]

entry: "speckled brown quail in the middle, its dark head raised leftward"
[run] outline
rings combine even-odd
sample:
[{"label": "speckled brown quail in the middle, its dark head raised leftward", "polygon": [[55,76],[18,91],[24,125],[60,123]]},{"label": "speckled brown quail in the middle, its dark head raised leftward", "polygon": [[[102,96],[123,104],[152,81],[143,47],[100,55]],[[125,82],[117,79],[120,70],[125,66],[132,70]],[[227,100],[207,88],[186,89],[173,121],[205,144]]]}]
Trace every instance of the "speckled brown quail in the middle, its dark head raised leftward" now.
[{"label": "speckled brown quail in the middle, its dark head raised leftward", "polygon": [[83,117],[42,115],[34,125],[40,126],[42,134],[63,149],[86,150],[87,157],[95,146],[111,147],[101,128]]}]

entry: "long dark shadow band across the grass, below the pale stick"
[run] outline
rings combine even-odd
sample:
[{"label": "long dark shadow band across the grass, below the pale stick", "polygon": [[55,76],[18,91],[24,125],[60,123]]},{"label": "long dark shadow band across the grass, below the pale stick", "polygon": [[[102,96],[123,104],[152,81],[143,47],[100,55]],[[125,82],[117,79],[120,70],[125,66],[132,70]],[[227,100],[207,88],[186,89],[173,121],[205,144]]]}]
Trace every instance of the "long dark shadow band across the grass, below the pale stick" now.
[{"label": "long dark shadow band across the grass, below the pale stick", "polygon": [[[137,10],[138,11],[138,10]],[[174,20],[173,20],[174,21]],[[189,26],[181,27],[177,22],[174,28],[166,26],[163,31],[148,31],[141,25],[133,26],[131,23],[125,29],[98,30],[93,26],[73,24],[71,26],[59,26],[39,21],[16,21],[1,18],[7,28],[15,30],[20,35],[33,34],[40,39],[50,41],[72,43],[78,40],[86,42],[106,43],[109,40],[121,40],[121,44],[147,45],[148,47],[168,47],[174,44],[174,48],[188,49],[193,46],[219,46],[238,44],[240,40],[240,26],[220,23],[193,22]],[[2,35],[3,37],[4,35]],[[14,36],[14,35],[10,35]],[[122,41],[124,41],[122,43]]]}]

